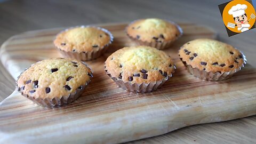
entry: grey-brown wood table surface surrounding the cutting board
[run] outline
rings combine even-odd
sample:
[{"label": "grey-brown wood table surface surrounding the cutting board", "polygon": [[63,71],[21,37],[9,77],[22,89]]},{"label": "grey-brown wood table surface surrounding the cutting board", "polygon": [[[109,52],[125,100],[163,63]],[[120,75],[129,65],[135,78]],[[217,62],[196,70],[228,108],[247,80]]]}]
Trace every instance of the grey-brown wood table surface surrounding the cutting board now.
[{"label": "grey-brown wood table surface surrounding the cutting board", "polygon": [[[164,18],[207,25],[218,38],[244,52],[256,66],[256,30],[228,37],[218,6],[227,1],[0,1],[0,43],[23,31]],[[0,101],[14,90],[15,82],[0,63]],[[131,143],[255,143],[255,116],[235,121],[189,126],[158,137]]]}]

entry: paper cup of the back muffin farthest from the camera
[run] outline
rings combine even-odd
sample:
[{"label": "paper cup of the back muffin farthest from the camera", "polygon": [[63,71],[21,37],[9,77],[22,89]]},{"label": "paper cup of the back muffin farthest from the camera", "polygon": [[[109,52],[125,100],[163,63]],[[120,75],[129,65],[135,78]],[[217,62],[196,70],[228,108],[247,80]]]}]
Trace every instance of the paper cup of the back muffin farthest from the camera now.
[{"label": "paper cup of the back muffin farthest from the camera", "polygon": [[[138,20],[135,20],[135,21],[131,22],[127,27],[129,27],[132,23],[134,23],[136,21],[138,21]],[[126,35],[130,39],[132,39],[132,41],[137,43],[137,45],[146,45],[146,46],[155,47],[158,50],[163,50],[163,49],[165,49],[167,47],[170,47],[173,44],[174,41],[176,41],[178,38],[180,38],[183,35],[183,30],[181,29],[181,27],[179,25],[177,25],[177,23],[169,21],[169,20],[166,20],[166,21],[168,21],[168,22],[172,23],[173,25],[175,25],[179,29],[179,31],[180,31],[180,35],[175,37],[171,41],[163,41],[162,43],[159,43],[159,42],[144,42],[144,41],[141,41],[140,39],[137,39],[137,38],[134,38],[134,37],[130,36],[127,33],[127,27],[125,28],[125,33],[126,33]]]}]

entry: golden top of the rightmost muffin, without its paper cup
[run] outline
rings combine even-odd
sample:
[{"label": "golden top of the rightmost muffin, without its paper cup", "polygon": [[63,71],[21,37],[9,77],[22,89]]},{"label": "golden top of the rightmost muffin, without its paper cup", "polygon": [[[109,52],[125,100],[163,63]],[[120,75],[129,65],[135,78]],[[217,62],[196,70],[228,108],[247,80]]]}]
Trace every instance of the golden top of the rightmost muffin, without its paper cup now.
[{"label": "golden top of the rightmost muffin, without its paper cup", "polygon": [[179,50],[182,61],[206,72],[223,73],[244,63],[243,54],[233,46],[213,39],[195,39]]}]

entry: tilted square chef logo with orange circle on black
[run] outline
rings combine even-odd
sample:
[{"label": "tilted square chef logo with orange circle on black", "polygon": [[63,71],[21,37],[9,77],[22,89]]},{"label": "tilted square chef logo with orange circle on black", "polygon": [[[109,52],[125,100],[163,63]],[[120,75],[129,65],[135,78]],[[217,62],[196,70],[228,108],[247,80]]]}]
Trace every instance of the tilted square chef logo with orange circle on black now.
[{"label": "tilted square chef logo with orange circle on black", "polygon": [[251,1],[234,0],[219,5],[228,36],[255,28],[255,10]]}]

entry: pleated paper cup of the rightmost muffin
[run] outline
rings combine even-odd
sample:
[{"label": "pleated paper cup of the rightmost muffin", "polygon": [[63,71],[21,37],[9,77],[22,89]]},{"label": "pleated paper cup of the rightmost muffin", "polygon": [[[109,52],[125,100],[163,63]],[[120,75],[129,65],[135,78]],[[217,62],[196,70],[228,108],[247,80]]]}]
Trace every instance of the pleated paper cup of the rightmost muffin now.
[{"label": "pleated paper cup of the rightmost muffin", "polygon": [[186,61],[183,61],[182,58],[181,61],[183,62],[183,64],[187,67],[187,70],[189,71],[189,73],[191,75],[194,75],[198,78],[201,78],[201,79],[205,79],[207,81],[223,81],[229,77],[231,77],[232,75],[234,75],[237,71],[241,70],[242,67],[245,66],[246,64],[246,58],[245,58],[245,55],[241,52],[242,56],[243,56],[243,60],[244,60],[244,63],[242,64],[241,67],[235,69],[235,70],[231,70],[231,71],[228,71],[228,72],[224,72],[224,73],[213,73],[212,71],[209,71],[209,72],[206,72],[205,70],[199,70],[198,68],[193,68],[191,65],[188,65]]}]

